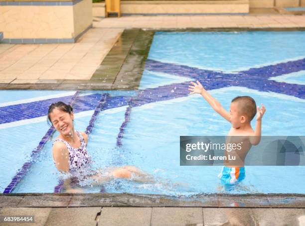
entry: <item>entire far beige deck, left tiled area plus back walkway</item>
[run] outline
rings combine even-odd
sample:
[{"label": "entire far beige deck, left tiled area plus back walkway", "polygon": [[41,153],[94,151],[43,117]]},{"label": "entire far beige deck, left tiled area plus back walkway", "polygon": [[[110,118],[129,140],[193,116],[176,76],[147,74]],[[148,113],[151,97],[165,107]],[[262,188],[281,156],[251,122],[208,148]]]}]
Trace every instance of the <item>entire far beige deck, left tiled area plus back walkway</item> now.
[{"label": "entire far beige deck, left tiled area plus back walkway", "polygon": [[[77,43],[0,44],[0,87],[10,84],[12,89],[28,89],[33,87],[29,84],[81,84],[89,81],[124,29],[305,29],[305,15],[284,15],[270,10],[267,13],[269,14],[123,16],[94,19],[93,28]],[[103,70],[99,72],[104,73]],[[115,79],[104,81],[103,86],[111,87],[114,81]],[[97,83],[101,81],[96,81],[95,84]],[[24,84],[28,86],[23,86]],[[47,87],[52,89],[51,86],[45,86]],[[75,89],[75,85],[72,88]]]}]

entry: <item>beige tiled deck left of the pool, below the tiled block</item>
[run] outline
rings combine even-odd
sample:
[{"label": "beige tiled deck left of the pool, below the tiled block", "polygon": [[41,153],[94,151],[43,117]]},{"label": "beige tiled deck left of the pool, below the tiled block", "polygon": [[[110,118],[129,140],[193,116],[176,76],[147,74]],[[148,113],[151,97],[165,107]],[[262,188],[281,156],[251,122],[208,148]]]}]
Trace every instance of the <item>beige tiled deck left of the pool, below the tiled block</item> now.
[{"label": "beige tiled deck left of the pool, below the tiled block", "polygon": [[90,79],[122,32],[92,28],[72,44],[0,44],[0,83]]}]

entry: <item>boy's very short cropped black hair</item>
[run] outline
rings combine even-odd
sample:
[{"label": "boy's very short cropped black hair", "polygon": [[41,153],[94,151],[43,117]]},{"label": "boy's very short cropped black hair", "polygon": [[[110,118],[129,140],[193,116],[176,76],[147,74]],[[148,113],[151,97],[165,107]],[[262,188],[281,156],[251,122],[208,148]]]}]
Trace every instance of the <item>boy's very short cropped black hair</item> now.
[{"label": "boy's very short cropped black hair", "polygon": [[232,100],[232,103],[236,102],[239,106],[239,113],[245,114],[247,119],[251,121],[256,115],[256,103],[252,97],[238,96]]}]

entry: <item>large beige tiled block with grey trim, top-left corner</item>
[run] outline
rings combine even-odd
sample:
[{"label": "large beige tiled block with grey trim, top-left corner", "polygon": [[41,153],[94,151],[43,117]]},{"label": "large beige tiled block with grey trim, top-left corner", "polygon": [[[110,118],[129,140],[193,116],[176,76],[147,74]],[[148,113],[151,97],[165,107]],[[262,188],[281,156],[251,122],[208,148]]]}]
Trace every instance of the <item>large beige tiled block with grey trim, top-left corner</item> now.
[{"label": "large beige tiled block with grey trim, top-left corner", "polygon": [[92,24],[92,1],[75,5],[1,5],[4,38],[74,38]]}]

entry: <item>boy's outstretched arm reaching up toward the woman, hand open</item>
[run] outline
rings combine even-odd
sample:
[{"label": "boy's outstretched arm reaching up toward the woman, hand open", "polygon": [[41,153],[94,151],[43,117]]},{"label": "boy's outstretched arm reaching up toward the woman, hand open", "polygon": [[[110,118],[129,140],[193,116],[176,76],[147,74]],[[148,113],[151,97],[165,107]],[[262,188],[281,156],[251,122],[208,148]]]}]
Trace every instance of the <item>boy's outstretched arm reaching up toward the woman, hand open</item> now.
[{"label": "boy's outstretched arm reaching up toward the woman, hand open", "polygon": [[221,104],[202,87],[199,81],[197,81],[197,84],[194,82],[191,82],[191,84],[192,86],[189,86],[188,89],[191,92],[190,94],[201,94],[201,96],[210,104],[210,106],[215,110],[215,112],[219,113],[226,120],[231,122],[230,113],[224,110]]}]

